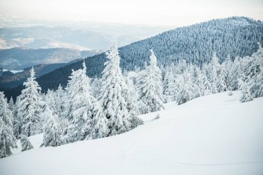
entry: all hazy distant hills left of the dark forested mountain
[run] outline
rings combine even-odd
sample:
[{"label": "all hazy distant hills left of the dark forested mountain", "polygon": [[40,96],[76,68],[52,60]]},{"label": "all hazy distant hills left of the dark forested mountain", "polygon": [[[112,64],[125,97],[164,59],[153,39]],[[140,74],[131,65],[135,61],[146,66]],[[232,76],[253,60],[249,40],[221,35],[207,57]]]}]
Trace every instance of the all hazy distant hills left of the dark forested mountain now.
[{"label": "all hazy distant hills left of the dark forested mountain", "polygon": [[[10,26],[0,18],[0,68],[23,69],[37,64],[66,63],[107,50],[112,41],[125,46],[156,35],[165,27],[117,24],[45,24]],[[12,20],[11,20],[12,21]],[[5,25],[6,24],[6,25]],[[24,26],[23,26],[24,24]],[[3,25],[3,26],[2,26]],[[74,28],[72,28],[74,26]],[[162,30],[163,29],[163,30]]]}]

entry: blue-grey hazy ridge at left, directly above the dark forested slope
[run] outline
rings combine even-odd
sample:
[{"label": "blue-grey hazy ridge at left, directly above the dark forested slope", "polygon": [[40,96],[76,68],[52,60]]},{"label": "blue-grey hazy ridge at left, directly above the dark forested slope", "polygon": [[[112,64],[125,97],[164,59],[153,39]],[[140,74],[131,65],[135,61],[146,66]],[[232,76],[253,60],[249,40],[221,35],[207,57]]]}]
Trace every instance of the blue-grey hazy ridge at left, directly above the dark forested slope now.
[{"label": "blue-grey hazy ridge at left, directly above the dark forested slope", "polygon": [[91,57],[102,50],[76,50],[72,48],[10,48],[0,50],[0,68],[21,70],[37,64],[57,64]]}]

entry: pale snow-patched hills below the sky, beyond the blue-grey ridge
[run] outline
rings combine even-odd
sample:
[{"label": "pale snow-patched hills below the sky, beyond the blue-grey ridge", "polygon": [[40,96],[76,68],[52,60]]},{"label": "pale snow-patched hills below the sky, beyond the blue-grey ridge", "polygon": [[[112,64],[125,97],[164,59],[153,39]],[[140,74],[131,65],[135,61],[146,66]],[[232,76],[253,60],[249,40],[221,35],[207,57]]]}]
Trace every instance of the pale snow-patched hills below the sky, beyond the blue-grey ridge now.
[{"label": "pale snow-patched hills below the sky, beyond the blue-grey ridge", "polygon": [[[4,21],[1,21],[4,23]],[[17,23],[19,23],[17,21]],[[119,46],[154,36],[167,27],[131,26],[114,24],[46,24],[0,28],[0,49],[24,48],[73,48],[78,50],[106,50],[112,40]],[[74,27],[72,27],[74,26]]]}]

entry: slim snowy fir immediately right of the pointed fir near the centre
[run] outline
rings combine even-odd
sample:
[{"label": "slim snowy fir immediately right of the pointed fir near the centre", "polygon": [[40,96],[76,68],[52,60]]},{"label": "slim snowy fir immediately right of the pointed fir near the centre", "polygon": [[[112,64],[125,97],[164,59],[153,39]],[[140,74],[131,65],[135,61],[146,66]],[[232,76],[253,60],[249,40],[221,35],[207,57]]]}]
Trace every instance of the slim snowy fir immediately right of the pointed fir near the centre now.
[{"label": "slim snowy fir immediately right of the pointed fir near the centre", "polygon": [[165,77],[163,79],[163,98],[165,102],[174,102],[176,100],[176,91],[173,70],[169,66],[165,70]]}]

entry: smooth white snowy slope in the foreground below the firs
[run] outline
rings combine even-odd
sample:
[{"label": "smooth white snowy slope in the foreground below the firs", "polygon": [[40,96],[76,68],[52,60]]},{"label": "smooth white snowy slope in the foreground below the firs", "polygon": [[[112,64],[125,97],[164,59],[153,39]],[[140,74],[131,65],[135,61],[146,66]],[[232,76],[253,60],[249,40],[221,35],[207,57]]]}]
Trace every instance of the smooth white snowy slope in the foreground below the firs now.
[{"label": "smooth white snowy slope in the foreground below the firs", "polygon": [[0,159],[0,174],[263,174],[263,98],[219,93],[166,104],[132,131]]}]

